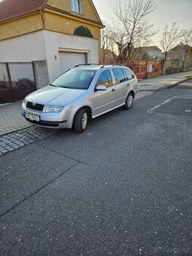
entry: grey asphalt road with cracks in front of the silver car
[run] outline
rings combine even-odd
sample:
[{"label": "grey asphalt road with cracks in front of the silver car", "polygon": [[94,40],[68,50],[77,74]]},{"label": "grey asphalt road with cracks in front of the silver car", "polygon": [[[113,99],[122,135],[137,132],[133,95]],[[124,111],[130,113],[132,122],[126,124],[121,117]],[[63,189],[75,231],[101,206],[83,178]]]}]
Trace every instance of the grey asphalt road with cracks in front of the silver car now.
[{"label": "grey asphalt road with cracks in front of the silver car", "polygon": [[1,255],[192,255],[192,82],[0,157]]}]

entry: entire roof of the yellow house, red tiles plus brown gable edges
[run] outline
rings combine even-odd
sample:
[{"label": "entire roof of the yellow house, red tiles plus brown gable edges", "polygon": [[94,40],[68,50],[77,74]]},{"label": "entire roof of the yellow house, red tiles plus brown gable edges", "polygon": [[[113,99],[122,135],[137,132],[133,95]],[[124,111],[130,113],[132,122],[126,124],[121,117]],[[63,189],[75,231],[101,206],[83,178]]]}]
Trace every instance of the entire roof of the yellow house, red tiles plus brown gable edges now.
[{"label": "entire roof of the yellow house, red tiles plus brown gable edges", "polygon": [[[95,11],[99,21],[96,22],[93,20],[89,20],[85,17],[82,17],[82,19],[91,21],[93,23],[97,23],[100,26],[104,27],[102,21],[99,18],[99,14],[97,13],[95,6],[93,5],[92,0],[90,0],[90,4],[92,5],[93,11]],[[17,18],[26,14],[31,14],[35,11],[39,11],[40,9],[42,10],[44,8],[53,11],[59,11],[69,16],[79,17],[68,11],[62,11],[57,8],[53,8],[52,6],[48,5],[48,0],[0,0],[0,22],[5,20],[11,20],[13,18]]]}]

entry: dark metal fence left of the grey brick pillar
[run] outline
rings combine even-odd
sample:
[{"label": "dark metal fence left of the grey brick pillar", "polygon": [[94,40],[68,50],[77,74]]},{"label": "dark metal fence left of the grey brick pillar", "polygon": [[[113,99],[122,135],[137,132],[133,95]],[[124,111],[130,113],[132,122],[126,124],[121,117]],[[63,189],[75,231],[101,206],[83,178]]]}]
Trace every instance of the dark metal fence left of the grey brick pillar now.
[{"label": "dark metal fence left of the grey brick pillar", "polygon": [[32,62],[0,62],[0,104],[23,99],[35,89]]}]

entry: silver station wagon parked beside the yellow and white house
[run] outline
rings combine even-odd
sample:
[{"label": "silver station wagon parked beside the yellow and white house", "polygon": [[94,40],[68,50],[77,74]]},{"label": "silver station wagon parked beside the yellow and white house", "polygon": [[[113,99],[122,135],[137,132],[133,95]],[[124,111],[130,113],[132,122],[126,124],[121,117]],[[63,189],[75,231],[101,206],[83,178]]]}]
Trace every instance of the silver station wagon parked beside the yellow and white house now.
[{"label": "silver station wagon parked beside the yellow and white house", "polygon": [[90,118],[124,105],[130,109],[137,78],[126,66],[78,65],[23,100],[23,116],[48,128],[82,133]]}]

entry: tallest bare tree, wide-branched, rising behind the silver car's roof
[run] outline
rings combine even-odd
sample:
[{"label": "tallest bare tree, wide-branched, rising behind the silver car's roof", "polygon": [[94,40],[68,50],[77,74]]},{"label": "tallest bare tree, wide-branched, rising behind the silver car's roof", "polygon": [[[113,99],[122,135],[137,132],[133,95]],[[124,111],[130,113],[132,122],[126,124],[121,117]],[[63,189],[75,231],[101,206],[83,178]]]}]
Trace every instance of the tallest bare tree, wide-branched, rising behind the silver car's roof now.
[{"label": "tallest bare tree, wide-branched, rising behind the silver car's roof", "polygon": [[119,62],[129,60],[133,49],[147,44],[156,33],[147,19],[156,9],[154,0],[121,1],[114,8],[114,44]]}]

